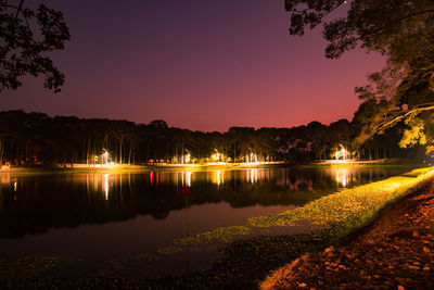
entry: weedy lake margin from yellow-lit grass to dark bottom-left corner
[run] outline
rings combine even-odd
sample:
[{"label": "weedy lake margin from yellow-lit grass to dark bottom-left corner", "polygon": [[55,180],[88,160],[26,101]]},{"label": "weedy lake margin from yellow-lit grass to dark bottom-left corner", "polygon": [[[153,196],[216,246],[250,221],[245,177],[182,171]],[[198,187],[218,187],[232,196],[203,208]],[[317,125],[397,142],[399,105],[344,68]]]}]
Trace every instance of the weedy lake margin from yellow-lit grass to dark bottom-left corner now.
[{"label": "weedy lake margin from yellow-lit grass to dark bottom-left corner", "polygon": [[[220,260],[214,263],[210,269],[145,279],[119,279],[117,275],[114,279],[112,276],[114,273],[110,269],[102,269],[99,276],[81,279],[74,277],[47,279],[42,276],[43,273],[38,272],[38,275],[43,277],[40,279],[44,283],[61,287],[67,287],[71,283],[74,287],[86,287],[91,283],[93,288],[106,288],[113,285],[150,288],[179,288],[180,285],[182,285],[181,288],[254,288],[270,270],[285,265],[304,253],[321,251],[331,244],[336,244],[349,234],[369,225],[382,210],[400,198],[417,192],[426,181],[432,180],[433,176],[434,167],[414,169],[385,180],[344,189],[281,214],[252,217],[239,226],[218,228],[178,239],[158,251],[158,255],[167,255],[182,251],[186,244],[194,247],[213,240],[228,242],[228,245],[221,250]],[[250,237],[258,229],[294,226],[305,220],[309,220],[320,229],[308,235]],[[245,238],[241,239],[242,237]],[[148,256],[144,260],[148,260]],[[131,261],[126,259],[124,262]],[[4,274],[1,273],[1,278],[5,277]],[[8,277],[12,285],[26,282],[26,279],[14,280],[13,276]],[[15,277],[18,278],[16,275]]]}]

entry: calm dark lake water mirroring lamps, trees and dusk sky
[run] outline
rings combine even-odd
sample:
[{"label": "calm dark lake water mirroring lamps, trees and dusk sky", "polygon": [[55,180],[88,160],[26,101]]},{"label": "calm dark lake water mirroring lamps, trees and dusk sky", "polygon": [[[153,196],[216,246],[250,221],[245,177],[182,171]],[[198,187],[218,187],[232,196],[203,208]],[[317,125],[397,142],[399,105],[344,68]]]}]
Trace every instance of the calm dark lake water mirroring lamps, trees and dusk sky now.
[{"label": "calm dark lake water mirroring lamps, trees and dusk sky", "polygon": [[[97,268],[103,261],[153,253],[176,238],[295,209],[341,188],[406,171],[255,168],[2,175],[0,257],[76,256],[89,268]],[[176,270],[183,265],[182,257],[170,266],[159,262],[159,267]]]}]

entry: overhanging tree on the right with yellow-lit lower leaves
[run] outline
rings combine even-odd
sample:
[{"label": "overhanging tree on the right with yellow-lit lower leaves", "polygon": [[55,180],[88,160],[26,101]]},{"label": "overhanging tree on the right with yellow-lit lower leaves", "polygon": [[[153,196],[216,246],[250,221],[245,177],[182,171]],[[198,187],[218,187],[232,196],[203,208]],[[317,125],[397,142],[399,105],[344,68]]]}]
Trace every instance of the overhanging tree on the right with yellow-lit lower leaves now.
[{"label": "overhanging tree on the right with yellow-lit lower leaves", "polygon": [[[327,58],[340,58],[356,47],[387,56],[384,70],[371,74],[368,86],[356,88],[366,106],[379,106],[371,119],[362,122],[357,147],[403,121],[407,128],[401,147],[420,143],[427,152],[434,150],[429,112],[434,110],[434,1],[285,0],[285,4],[292,35],[301,36],[332,17],[323,26]],[[343,5],[348,8],[346,16],[333,18]]]}]

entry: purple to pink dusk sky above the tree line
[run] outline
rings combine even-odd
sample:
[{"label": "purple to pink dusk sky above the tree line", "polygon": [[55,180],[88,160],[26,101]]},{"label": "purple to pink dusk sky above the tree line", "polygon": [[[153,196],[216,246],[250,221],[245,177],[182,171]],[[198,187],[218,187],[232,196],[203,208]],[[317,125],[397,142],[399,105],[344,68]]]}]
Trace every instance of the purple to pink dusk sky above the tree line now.
[{"label": "purple to pink dusk sky above the tree line", "polygon": [[52,53],[60,93],[25,78],[0,111],[125,118],[225,131],[352,118],[354,87],[384,59],[323,56],[321,30],[288,33],[284,0],[43,1],[61,10],[72,40]]}]

